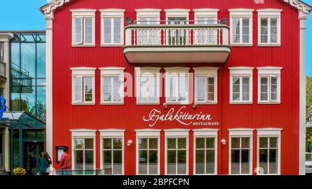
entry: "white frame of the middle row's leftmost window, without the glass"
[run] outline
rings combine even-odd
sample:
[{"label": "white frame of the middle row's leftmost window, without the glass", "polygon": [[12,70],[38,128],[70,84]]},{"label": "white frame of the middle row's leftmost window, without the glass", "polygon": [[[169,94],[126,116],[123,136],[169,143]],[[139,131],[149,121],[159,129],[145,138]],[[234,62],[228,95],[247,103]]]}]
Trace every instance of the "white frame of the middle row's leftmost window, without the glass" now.
[{"label": "white frame of the middle row's leftmost window, without the glass", "polygon": [[[72,105],[95,105],[95,71],[96,68],[91,67],[76,67],[71,68],[71,104]],[[85,85],[83,84],[83,93],[82,95],[82,101],[75,101],[75,86],[74,86],[74,79],[75,78],[82,78],[84,80],[85,77],[92,78],[92,101],[85,102]]]}]

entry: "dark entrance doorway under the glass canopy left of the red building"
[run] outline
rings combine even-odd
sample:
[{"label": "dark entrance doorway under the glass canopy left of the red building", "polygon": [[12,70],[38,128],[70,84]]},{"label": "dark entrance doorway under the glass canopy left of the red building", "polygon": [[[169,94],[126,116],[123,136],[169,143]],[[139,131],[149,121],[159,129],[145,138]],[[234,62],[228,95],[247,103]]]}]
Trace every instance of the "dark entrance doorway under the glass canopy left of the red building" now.
[{"label": "dark entrance doorway under the glass canopy left of the red building", "polygon": [[28,174],[37,174],[42,152],[44,152],[44,143],[24,142],[24,166]]}]

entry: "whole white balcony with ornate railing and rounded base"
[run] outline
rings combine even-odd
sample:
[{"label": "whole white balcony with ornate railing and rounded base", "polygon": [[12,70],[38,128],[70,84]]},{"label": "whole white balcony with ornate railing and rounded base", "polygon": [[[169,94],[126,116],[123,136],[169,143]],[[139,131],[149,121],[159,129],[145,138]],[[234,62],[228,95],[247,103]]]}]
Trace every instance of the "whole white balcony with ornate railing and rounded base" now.
[{"label": "whole white balcony with ornate railing and rounded base", "polygon": [[230,53],[225,24],[125,27],[123,54],[130,64],[225,63]]}]

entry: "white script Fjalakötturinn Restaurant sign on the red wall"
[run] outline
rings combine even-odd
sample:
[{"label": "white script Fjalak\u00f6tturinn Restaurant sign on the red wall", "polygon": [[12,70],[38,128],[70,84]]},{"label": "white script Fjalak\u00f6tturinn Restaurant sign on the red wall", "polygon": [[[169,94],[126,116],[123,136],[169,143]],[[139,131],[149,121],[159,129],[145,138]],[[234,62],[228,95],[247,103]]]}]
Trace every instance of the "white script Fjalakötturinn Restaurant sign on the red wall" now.
[{"label": "white script Fjalak\u00f6tturinn Restaurant sign on the red wall", "polygon": [[161,121],[177,121],[182,125],[194,126],[218,126],[218,122],[212,122],[211,114],[190,114],[184,111],[187,107],[181,107],[177,111],[175,108],[169,109],[166,113],[158,109],[152,109],[148,117],[144,116],[143,120],[149,123],[150,127],[154,127],[156,123]]}]

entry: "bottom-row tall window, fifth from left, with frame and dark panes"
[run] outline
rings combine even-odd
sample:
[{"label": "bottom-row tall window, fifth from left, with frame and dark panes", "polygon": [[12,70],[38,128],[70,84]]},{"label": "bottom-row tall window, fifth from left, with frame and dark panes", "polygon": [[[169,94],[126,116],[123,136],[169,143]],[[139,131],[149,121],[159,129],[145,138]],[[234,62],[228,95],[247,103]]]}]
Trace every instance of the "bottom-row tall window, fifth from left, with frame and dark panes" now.
[{"label": "bottom-row tall window, fifth from left, with frame and dark panes", "polygon": [[217,174],[218,129],[193,129],[194,174]]}]

